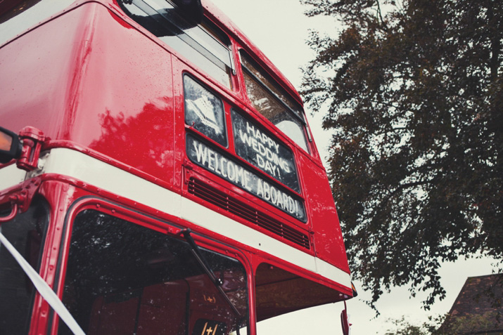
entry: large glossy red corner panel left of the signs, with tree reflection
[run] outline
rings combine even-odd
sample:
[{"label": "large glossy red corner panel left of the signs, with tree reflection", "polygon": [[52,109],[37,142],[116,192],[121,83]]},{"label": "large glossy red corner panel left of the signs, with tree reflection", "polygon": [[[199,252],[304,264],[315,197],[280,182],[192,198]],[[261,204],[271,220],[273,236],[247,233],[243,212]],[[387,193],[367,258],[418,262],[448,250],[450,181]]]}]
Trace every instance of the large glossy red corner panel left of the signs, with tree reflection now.
[{"label": "large glossy red corner panel left of the signs, with tree reflection", "polygon": [[46,22],[0,48],[0,63],[5,127],[35,126],[174,183],[170,55],[105,6]]}]

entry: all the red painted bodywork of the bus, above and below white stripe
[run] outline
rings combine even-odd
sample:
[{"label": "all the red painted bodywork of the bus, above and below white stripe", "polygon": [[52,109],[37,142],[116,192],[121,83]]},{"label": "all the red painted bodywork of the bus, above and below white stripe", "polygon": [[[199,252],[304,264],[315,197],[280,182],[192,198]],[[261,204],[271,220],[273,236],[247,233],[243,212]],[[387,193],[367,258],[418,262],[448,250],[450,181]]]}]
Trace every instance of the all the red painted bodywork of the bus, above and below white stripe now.
[{"label": "all the red painted bodywork of the bus, above and below white stripe", "polygon": [[[295,100],[302,103],[295,88],[229,18],[208,1],[203,4],[208,18],[229,34],[234,60],[239,59],[239,49],[246,50]],[[1,125],[13,131],[25,126],[40,129],[45,136],[41,138],[42,151],[66,147],[83,152],[349,273],[336,207],[314,142],[309,143],[310,153],[303,151],[253,108],[246,96],[239,66],[236,66],[236,75],[231,76],[233,88],[219,84],[136,24],[111,0],[77,1],[68,11],[1,46],[0,65]],[[263,129],[292,150],[302,187],[300,192],[289,191],[304,200],[307,222],[298,221],[190,162],[186,155],[186,133],[198,131],[184,121],[184,74],[205,83],[222,98],[227,125],[231,124],[231,109],[236,108],[256,119]],[[227,147],[209,139],[208,142],[262,178],[271,179],[234,154],[230,126],[228,140]],[[224,195],[307,235],[310,249],[303,249],[191,194],[188,186],[191,177],[204,180]],[[72,218],[90,207],[167,234],[191,228],[196,232],[196,241],[204,247],[237,258],[248,270],[250,320],[256,319],[254,274],[263,263],[284,268],[293,275],[339,292],[340,298],[336,300],[352,296],[350,287],[176,215],[110,193],[98,185],[45,173],[10,190],[0,190],[0,204],[6,197],[22,195],[22,192],[28,195],[23,199],[41,195],[51,207],[40,273],[50,285],[57,285],[60,296],[63,294]],[[20,206],[22,211],[27,207]],[[37,296],[33,315],[30,334],[46,334],[48,327],[50,334],[56,334],[57,317],[52,315],[41,296]],[[250,323],[250,330],[255,334],[254,322]]]}]

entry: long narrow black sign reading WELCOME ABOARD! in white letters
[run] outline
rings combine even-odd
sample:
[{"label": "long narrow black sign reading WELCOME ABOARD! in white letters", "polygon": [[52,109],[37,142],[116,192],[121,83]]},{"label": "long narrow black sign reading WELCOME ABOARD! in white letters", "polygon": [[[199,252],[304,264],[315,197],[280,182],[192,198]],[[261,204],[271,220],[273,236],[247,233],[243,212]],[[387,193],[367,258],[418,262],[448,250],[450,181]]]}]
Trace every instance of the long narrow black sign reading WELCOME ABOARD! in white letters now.
[{"label": "long narrow black sign reading WELCOME ABOARD! in white letters", "polygon": [[203,166],[204,169],[269,202],[294,218],[306,221],[303,202],[293,192],[270,183],[252,169],[231,159],[227,153],[212,148],[190,134],[187,134],[186,138],[186,152],[193,163]]}]

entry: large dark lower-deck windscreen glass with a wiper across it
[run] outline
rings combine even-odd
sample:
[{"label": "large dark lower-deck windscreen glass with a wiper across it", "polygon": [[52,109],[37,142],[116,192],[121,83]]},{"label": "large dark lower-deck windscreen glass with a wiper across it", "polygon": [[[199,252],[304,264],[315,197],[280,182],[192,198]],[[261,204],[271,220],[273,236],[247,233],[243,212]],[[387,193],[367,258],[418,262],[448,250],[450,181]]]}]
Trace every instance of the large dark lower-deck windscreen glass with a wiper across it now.
[{"label": "large dark lower-deck windscreen glass with a wiper across it", "polygon": [[[243,265],[204,249],[203,256],[248,315]],[[205,325],[229,334],[242,322],[184,240],[92,210],[73,223],[63,303],[88,335],[201,334]],[[63,322],[59,329],[71,334]]]}]

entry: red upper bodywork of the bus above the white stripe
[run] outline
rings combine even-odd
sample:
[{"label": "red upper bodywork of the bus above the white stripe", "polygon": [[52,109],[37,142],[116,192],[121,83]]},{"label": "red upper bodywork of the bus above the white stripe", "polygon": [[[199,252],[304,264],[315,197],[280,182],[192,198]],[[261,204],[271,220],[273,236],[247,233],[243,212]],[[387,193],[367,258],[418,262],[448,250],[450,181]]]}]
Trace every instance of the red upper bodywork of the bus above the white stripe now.
[{"label": "red upper bodywork of the bus above the white stripe", "polygon": [[[174,112],[183,110],[182,73],[212,79],[172,57],[166,46],[146,38],[148,33],[134,29],[105,5],[76,6],[0,48],[0,63],[8,64],[0,67],[2,124],[15,130],[34,126],[52,141],[89,147],[182,192],[184,120],[182,113]],[[224,27],[231,27],[243,47],[275,69],[223,14],[216,18]],[[279,73],[274,71],[288,84]],[[286,89],[295,92],[291,84]],[[236,94],[221,88],[217,93],[224,98],[226,110],[236,106],[253,112],[242,89]],[[269,131],[283,137],[274,127]],[[349,272],[331,192],[314,143],[312,155],[297,148],[295,154],[309,217],[307,224],[297,225],[314,232],[319,258]],[[246,192],[226,186],[255,201]],[[272,206],[266,207],[284,216]]]}]

